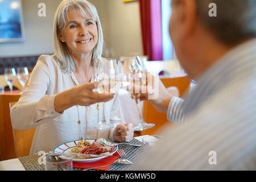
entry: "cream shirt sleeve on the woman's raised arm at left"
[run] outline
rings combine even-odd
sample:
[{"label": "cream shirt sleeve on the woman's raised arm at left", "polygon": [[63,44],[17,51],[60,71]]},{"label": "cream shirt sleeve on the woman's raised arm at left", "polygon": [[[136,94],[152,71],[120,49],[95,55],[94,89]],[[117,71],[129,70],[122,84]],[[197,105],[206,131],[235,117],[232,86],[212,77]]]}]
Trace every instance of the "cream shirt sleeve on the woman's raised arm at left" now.
[{"label": "cream shirt sleeve on the woman's raised arm at left", "polygon": [[46,56],[39,57],[26,90],[11,108],[11,123],[14,129],[31,129],[62,114],[55,111],[55,95],[46,94],[51,81],[46,59]]}]

